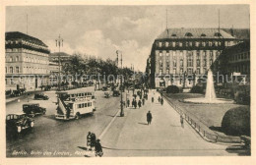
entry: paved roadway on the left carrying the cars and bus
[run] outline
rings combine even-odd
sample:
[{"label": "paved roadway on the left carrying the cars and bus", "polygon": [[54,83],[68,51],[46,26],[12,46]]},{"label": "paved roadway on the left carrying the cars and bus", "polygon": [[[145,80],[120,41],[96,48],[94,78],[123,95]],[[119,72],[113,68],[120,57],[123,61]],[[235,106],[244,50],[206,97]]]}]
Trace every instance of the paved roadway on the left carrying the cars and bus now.
[{"label": "paved roadway on the left carrying the cars and bus", "polygon": [[[46,107],[44,116],[34,118],[34,128],[26,132],[21,138],[7,139],[6,154],[10,156],[84,156],[80,151],[86,144],[86,136],[89,131],[96,133],[96,136],[103,132],[103,129],[111,121],[119,109],[120,97],[104,98],[102,91],[96,91],[96,112],[94,116],[88,115],[80,120],[57,121],[54,119],[56,96],[53,91],[45,92],[49,100],[32,100],[30,103],[38,102],[40,106]],[[22,112],[22,104],[28,103],[28,99],[22,98],[21,102],[7,104],[8,113]],[[16,154],[16,151],[20,151]],[[26,151],[27,154],[24,154]],[[37,154],[32,155],[31,152]],[[58,154],[54,152],[58,152]],[[42,153],[41,153],[42,152]],[[43,155],[43,153],[48,155]]]}]

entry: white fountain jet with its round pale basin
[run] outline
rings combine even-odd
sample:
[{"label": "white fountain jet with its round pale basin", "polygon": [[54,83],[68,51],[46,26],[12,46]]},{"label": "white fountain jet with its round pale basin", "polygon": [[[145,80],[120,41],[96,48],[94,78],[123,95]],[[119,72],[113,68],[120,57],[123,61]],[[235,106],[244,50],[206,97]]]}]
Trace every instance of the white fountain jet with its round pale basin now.
[{"label": "white fountain jet with its round pale basin", "polygon": [[222,104],[222,103],[233,103],[231,99],[217,98],[214,85],[213,72],[208,71],[207,74],[207,83],[206,83],[206,94],[203,98],[187,98],[183,102],[190,103],[201,103],[201,104]]}]

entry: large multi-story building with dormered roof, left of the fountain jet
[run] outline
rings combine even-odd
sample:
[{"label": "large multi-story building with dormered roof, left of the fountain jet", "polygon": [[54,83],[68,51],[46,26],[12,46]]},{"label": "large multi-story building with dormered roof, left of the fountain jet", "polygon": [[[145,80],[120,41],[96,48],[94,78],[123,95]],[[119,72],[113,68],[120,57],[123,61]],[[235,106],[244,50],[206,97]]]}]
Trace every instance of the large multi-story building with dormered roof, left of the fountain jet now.
[{"label": "large multi-story building with dormered roof, left of the fountain jet", "polygon": [[150,86],[193,86],[224,48],[238,41],[219,28],[166,28],[155,39],[148,59]]}]

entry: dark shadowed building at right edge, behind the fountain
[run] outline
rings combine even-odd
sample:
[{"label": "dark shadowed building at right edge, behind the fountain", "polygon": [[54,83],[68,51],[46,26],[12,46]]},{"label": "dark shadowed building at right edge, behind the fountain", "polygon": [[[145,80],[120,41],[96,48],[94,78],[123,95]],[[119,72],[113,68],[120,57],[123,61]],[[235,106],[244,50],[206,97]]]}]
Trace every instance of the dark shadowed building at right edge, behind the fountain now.
[{"label": "dark shadowed building at right edge, behind the fountain", "polygon": [[218,83],[225,87],[228,83],[250,84],[250,41],[224,49],[211,68],[215,75],[220,76]]}]

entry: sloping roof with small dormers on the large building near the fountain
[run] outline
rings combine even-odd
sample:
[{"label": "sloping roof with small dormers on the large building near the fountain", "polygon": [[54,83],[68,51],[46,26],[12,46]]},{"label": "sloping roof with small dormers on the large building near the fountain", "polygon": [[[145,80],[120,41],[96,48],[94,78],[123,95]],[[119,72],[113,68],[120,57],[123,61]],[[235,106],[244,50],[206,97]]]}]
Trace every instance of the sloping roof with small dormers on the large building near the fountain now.
[{"label": "sloping roof with small dormers on the large building near the fountain", "polygon": [[[221,34],[221,35],[220,35]],[[218,28],[166,28],[157,39],[166,38],[230,38],[232,35]]]}]

